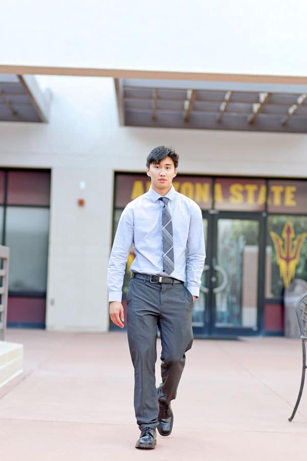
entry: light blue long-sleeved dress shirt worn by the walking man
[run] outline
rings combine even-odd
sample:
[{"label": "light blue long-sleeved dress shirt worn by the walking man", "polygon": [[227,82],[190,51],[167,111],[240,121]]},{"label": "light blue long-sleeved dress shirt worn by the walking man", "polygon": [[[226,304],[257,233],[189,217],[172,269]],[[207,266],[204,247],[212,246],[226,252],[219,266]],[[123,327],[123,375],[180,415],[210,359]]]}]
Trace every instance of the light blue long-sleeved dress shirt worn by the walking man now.
[{"label": "light blue long-sleeved dress shirt worn by the walking man", "polygon": [[[109,301],[122,300],[122,285],[127,257],[134,247],[133,272],[164,275],[162,259],[161,196],[150,187],[146,194],[125,207],[116,231],[107,271]],[[202,212],[198,204],[171,186],[164,196],[169,199],[172,217],[174,270],[171,277],[187,282],[193,296],[199,296],[205,263],[205,242]]]}]

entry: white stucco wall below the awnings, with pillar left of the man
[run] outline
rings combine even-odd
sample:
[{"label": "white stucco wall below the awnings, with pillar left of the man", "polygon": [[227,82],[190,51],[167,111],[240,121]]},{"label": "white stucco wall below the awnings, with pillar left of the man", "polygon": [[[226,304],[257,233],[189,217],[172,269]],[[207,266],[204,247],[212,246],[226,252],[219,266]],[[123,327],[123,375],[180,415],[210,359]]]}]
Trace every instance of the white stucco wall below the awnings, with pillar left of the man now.
[{"label": "white stucco wall below the awnings, with pillar left of the man", "polygon": [[172,145],[182,173],[307,176],[307,135],[119,127],[112,79],[40,81],[53,91],[50,123],[1,122],[0,166],[52,169],[50,330],[107,329],[113,174],[145,170],[154,146]]}]

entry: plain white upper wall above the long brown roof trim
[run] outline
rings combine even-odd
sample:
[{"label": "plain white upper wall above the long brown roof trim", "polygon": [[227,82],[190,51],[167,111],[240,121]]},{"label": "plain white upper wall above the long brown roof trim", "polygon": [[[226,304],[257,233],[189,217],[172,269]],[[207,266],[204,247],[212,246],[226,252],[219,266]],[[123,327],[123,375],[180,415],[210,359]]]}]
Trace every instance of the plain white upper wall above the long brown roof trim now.
[{"label": "plain white upper wall above the long brown roof trim", "polygon": [[0,64],[307,74],[304,0],[10,0]]}]

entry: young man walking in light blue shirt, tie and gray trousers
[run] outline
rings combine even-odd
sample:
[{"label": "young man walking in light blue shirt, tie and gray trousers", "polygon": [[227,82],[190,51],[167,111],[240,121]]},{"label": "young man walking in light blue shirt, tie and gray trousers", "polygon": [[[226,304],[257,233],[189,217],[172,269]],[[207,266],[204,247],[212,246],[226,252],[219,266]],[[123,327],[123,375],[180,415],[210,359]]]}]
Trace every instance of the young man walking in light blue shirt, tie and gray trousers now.
[{"label": "young man walking in light blue shirt, tie and gray trousers", "polygon": [[[127,333],[135,369],[134,407],[141,430],[136,448],[155,448],[156,428],[161,435],[171,433],[170,402],[176,397],[185,352],[192,346],[192,308],[205,262],[201,209],[172,186],[178,160],[178,154],[165,146],[150,152],[146,166],[151,187],[125,207],[108,264],[109,313],[112,322],[122,328],[121,289],[127,256],[134,246]],[[162,343],[158,389],[157,326]]]}]

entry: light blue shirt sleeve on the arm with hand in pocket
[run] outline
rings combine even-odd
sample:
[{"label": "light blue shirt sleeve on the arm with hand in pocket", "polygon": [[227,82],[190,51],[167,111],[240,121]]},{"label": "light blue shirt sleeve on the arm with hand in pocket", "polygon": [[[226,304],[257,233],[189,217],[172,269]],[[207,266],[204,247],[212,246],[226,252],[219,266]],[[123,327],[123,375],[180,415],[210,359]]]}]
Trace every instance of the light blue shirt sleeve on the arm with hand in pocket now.
[{"label": "light blue shirt sleeve on the arm with hand in pocket", "polygon": [[199,297],[206,258],[204,224],[200,207],[193,203],[187,241],[187,289]]}]

